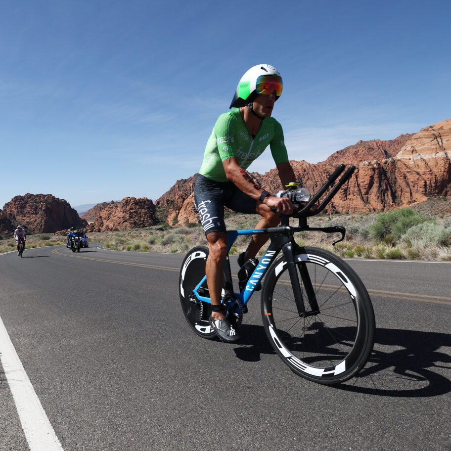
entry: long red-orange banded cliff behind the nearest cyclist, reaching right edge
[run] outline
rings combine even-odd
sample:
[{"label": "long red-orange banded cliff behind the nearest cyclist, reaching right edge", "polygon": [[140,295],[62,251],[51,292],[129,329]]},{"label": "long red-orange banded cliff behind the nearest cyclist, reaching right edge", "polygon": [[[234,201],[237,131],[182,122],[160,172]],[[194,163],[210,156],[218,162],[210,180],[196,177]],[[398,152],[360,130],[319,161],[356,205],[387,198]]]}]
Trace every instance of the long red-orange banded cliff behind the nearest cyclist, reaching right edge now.
[{"label": "long red-orange banded cliff behind the nearest cyclist, reaching right edge", "polygon": [[[334,197],[329,211],[378,212],[451,195],[451,119],[426,127],[416,134],[383,141],[359,141],[316,165],[291,161],[297,180],[316,192],[339,164],[356,166],[356,172]],[[277,170],[255,181],[270,192],[280,189]],[[179,180],[155,204],[167,206],[168,222],[198,222],[192,193],[196,175]],[[177,219],[177,220],[176,220]]]}]

